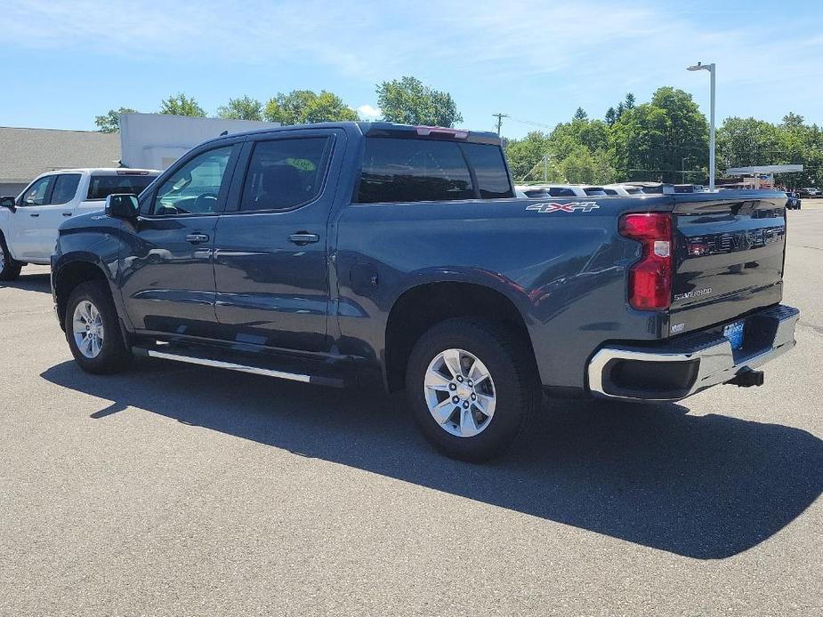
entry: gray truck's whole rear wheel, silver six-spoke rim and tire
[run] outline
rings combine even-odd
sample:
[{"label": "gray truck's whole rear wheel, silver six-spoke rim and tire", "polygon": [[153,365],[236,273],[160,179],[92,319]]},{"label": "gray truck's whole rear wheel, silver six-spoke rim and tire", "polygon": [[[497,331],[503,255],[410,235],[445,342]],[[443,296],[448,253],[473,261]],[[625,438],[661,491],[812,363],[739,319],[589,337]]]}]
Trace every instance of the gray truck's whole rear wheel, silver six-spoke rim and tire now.
[{"label": "gray truck's whole rear wheel, silver six-spoke rim and tire", "polygon": [[417,341],[406,375],[409,405],[440,452],[485,461],[506,449],[537,411],[528,345],[484,319],[448,319]]}]

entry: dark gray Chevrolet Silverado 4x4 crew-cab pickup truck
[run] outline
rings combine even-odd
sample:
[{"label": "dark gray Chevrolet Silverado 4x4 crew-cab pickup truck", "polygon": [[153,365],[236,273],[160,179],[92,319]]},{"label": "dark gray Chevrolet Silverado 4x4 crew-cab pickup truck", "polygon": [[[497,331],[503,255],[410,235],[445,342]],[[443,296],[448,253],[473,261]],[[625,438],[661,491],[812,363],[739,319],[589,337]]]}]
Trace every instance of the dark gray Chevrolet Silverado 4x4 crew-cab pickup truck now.
[{"label": "dark gray Chevrolet Silverado 4x4 crew-cab pickup truck", "polygon": [[493,133],[313,124],[207,141],[67,220],[52,290],[86,371],[141,354],[382,382],[479,461],[544,392],[761,385],[795,345],[785,249],[784,193],[520,199]]}]

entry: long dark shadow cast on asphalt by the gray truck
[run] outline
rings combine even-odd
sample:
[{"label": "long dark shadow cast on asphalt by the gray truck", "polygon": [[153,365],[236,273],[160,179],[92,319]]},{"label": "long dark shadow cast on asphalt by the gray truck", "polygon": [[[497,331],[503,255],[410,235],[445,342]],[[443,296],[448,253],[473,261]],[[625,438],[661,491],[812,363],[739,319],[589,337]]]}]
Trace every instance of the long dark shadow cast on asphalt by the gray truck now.
[{"label": "long dark shadow cast on asphalt by the gray truck", "polygon": [[66,362],[42,376],[111,401],[92,414],[101,421],[134,406],[700,559],[754,547],[823,490],[823,442],[779,424],[559,402],[512,453],[469,465],[432,451],[399,397],[182,366],[141,361],[96,377]]}]

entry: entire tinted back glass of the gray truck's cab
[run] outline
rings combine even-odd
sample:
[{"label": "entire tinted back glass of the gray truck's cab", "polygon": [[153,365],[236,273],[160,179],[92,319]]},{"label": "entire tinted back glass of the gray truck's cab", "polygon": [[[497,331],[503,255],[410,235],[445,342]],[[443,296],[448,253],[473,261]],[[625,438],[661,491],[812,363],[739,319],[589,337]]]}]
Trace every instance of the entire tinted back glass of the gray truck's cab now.
[{"label": "entire tinted back glass of the gray truck's cab", "polygon": [[[472,165],[477,186],[472,180]],[[455,201],[511,197],[500,148],[456,141],[366,140],[357,202]]]}]

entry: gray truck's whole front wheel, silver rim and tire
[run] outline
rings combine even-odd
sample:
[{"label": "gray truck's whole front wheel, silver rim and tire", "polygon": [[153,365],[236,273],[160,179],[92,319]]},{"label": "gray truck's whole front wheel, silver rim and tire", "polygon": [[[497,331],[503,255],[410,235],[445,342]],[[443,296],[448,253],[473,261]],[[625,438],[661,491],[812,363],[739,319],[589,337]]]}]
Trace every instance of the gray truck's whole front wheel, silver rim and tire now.
[{"label": "gray truck's whole front wheel, silver rim and tire", "polygon": [[105,283],[77,285],[66,307],[66,340],[88,373],[119,373],[132,357],[120,333],[117,309]]}]

